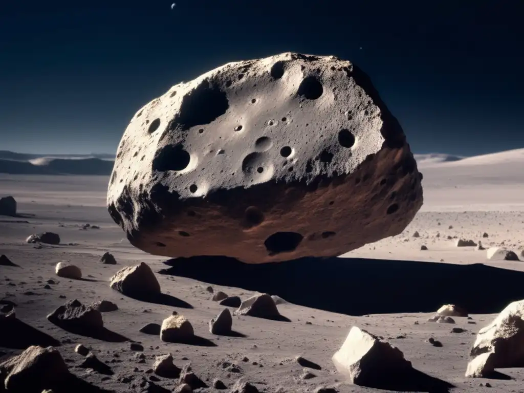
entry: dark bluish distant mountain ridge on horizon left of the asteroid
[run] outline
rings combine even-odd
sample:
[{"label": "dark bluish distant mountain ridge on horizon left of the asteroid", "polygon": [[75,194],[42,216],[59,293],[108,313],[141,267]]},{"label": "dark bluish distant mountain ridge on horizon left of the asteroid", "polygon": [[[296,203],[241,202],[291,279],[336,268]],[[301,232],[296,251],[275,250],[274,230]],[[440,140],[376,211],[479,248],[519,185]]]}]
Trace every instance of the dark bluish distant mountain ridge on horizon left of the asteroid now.
[{"label": "dark bluish distant mountain ridge on horizon left of the asteroid", "polygon": [[0,173],[110,176],[113,165],[111,154],[37,155],[0,150]]}]

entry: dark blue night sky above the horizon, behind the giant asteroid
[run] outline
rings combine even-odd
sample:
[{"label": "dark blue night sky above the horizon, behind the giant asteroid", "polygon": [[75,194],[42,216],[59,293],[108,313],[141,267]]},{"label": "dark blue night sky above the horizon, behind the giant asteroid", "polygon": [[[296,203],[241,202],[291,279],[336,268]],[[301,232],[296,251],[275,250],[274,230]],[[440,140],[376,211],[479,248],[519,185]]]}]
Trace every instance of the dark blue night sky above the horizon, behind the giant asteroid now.
[{"label": "dark blue night sky above the horizon, behind the giant asteroid", "polygon": [[171,85],[285,51],[359,65],[414,152],[524,147],[522,0],[171,3],[2,1],[0,150],[114,152]]}]

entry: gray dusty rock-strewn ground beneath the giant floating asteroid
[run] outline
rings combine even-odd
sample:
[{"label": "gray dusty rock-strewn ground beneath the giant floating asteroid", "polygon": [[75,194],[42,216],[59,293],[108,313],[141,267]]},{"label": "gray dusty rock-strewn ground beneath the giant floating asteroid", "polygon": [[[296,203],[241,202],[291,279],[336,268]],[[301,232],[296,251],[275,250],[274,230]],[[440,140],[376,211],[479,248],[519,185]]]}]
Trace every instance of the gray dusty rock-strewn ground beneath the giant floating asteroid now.
[{"label": "gray dusty rock-strewn ground beneath the giant floating asteroid", "polygon": [[[346,255],[349,258],[312,261],[303,267],[282,264],[267,270],[247,269],[239,274],[234,264],[225,263],[222,268],[195,263],[190,268],[184,264],[193,261],[166,264],[165,259],[131,247],[104,208],[106,183],[107,179],[101,177],[0,176],[2,194],[14,195],[24,215],[0,217],[0,254],[19,265],[0,266],[0,299],[15,302],[21,321],[58,340],[71,372],[96,387],[135,391],[133,384],[142,377],[149,378],[146,370],[155,355],[172,353],[178,367],[191,363],[195,374],[210,386],[213,378],[230,387],[244,377],[264,392],[313,392],[318,386],[336,387],[339,392],[379,391],[345,384],[331,362],[351,326],[356,325],[389,339],[415,368],[454,385],[453,391],[524,391],[522,369],[501,370],[511,378],[507,380],[464,378],[468,351],[478,329],[511,300],[524,298],[523,263],[492,263],[486,260],[485,252],[472,247],[458,249],[446,239],[451,235],[477,240],[487,232],[489,237],[482,238],[486,246],[505,242],[518,249],[524,241],[522,212],[464,213],[467,209],[460,208],[422,211],[402,235],[355,250]],[[81,230],[84,223],[101,228]],[[450,225],[453,228],[449,229]],[[62,244],[36,248],[25,243],[28,235],[43,231],[58,233]],[[413,238],[414,231],[421,237]],[[436,237],[437,232],[440,237]],[[421,251],[422,244],[429,249]],[[105,251],[115,255],[117,265],[100,263]],[[54,266],[61,260],[78,265],[86,280],[56,277]],[[130,299],[109,287],[108,279],[114,272],[140,261],[155,271],[162,291],[174,297],[169,298],[171,305]],[[49,279],[56,283],[45,289]],[[208,322],[223,307],[211,301],[205,289],[209,285],[243,299],[270,290],[295,303],[279,305],[281,314],[291,321],[234,316],[233,329],[245,336],[214,336]],[[46,319],[54,308],[72,299],[83,303],[107,299],[118,305],[118,311],[103,314],[106,328],[117,333],[109,337],[111,341],[69,333]],[[192,308],[177,307],[177,299]],[[456,325],[427,322],[441,304],[459,300],[471,312],[478,312],[471,314],[473,320],[455,318]],[[195,333],[203,338],[201,345],[163,343],[158,336],[139,332],[147,323],[161,323],[173,311],[189,318]],[[451,333],[454,326],[466,331]],[[33,342],[24,337],[15,340],[2,332],[0,350],[5,356],[49,340],[28,333],[29,328],[20,332],[19,336],[24,334],[27,340],[32,337]],[[427,342],[429,337],[443,346],[432,346]],[[129,349],[128,340],[144,345],[145,360]],[[111,366],[114,375],[75,367],[83,360],[74,353],[78,343],[92,348]],[[294,361],[297,355],[321,367],[310,369],[316,377],[299,379],[303,367]],[[238,372],[224,369],[223,362],[237,364]],[[483,386],[487,382],[491,388]],[[159,377],[157,384],[173,390],[178,382]],[[431,386],[419,384],[414,390],[428,391]],[[406,389],[409,387],[399,390]],[[219,390],[209,387],[198,391]]]}]

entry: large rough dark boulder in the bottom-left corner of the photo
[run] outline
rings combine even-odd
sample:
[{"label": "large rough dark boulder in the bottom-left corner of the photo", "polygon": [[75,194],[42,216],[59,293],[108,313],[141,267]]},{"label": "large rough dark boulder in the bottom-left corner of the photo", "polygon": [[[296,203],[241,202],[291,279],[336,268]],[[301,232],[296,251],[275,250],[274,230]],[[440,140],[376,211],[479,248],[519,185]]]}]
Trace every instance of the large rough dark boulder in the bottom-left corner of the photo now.
[{"label": "large rough dark boulder in the bottom-left corner of the photo", "polygon": [[40,393],[63,386],[69,376],[58,350],[31,345],[20,355],[0,363],[0,382],[4,385],[0,390]]}]

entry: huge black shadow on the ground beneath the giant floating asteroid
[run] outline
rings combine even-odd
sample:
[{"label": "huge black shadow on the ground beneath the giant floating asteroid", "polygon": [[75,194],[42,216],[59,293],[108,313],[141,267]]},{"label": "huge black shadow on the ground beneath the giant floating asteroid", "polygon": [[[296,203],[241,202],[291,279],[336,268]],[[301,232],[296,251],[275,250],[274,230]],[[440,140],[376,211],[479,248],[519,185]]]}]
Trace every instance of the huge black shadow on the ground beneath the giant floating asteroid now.
[{"label": "huge black shadow on the ground beneath the giant floating asteroid", "polygon": [[348,315],[433,312],[448,303],[472,314],[491,314],[524,298],[524,272],[483,264],[301,258],[254,265],[205,256],[165,264],[171,267],[160,274],[275,294],[294,304]]}]

